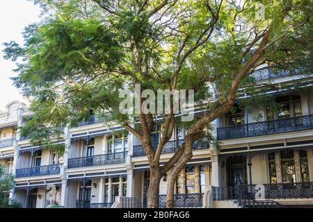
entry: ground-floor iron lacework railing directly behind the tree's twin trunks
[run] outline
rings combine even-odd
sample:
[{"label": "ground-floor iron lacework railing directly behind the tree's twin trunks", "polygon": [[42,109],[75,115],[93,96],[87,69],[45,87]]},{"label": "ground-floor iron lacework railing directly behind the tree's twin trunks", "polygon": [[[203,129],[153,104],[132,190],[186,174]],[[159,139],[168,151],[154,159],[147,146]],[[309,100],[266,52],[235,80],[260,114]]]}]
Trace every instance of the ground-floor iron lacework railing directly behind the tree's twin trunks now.
[{"label": "ground-floor iron lacework railing directly behind the tree's twin trunks", "polygon": [[[175,208],[202,207],[203,194],[175,194]],[[159,207],[166,207],[166,195],[159,196]]]}]

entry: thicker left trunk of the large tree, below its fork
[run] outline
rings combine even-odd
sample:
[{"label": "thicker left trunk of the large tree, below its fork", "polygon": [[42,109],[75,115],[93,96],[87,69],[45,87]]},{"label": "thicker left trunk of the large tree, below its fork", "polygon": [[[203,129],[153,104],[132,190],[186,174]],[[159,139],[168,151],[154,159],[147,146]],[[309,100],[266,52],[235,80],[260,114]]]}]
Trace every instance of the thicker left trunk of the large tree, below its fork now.
[{"label": "thicker left trunk of the large tree, below its fork", "polygon": [[157,167],[150,167],[150,182],[147,191],[147,207],[159,207],[159,189],[160,189],[161,172]]}]

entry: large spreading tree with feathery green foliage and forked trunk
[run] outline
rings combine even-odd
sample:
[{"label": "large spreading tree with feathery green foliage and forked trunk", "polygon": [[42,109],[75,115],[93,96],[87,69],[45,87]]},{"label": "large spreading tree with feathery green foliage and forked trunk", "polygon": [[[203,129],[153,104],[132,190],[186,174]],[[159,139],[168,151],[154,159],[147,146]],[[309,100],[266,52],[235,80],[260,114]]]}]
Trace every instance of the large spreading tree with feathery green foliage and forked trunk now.
[{"label": "large spreading tree with feathery green foliage and forked trunk", "polygon": [[[90,110],[105,122],[118,121],[145,149],[150,165],[148,207],[159,206],[159,182],[168,171],[167,207],[174,206],[175,181],[193,155],[193,143],[213,139],[209,124],[230,111],[239,87],[245,85],[247,93],[255,94],[248,84],[253,80],[247,78],[252,71],[268,65],[297,72],[291,67],[300,66],[305,72],[301,61],[312,61],[310,1],[35,3],[42,6],[45,19],[25,29],[24,46],[10,42],[4,50],[5,58],[23,59],[13,80],[33,99],[33,117],[22,134],[29,133],[33,143],[51,146],[49,138],[61,134],[57,129],[77,126],[90,117]],[[135,93],[136,83],[153,92],[194,89],[195,104],[209,101],[202,105],[204,114],[185,123],[186,139],[163,166],[163,146],[178,122],[175,104],[161,115],[164,127],[154,150],[156,114],[119,110],[119,92],[127,87]],[[140,108],[147,99],[140,99]]]}]

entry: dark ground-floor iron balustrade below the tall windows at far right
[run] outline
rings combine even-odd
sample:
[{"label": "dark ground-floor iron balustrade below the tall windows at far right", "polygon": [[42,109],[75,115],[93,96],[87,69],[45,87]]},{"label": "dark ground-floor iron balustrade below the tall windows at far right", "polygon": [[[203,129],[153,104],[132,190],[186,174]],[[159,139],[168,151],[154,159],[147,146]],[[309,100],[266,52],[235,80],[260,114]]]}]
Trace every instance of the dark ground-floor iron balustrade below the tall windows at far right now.
[{"label": "dark ground-floor iron balustrade below the tall windows at far right", "polygon": [[[236,186],[242,199],[255,199],[261,191],[257,185]],[[264,184],[265,199],[313,198],[313,182]]]}]

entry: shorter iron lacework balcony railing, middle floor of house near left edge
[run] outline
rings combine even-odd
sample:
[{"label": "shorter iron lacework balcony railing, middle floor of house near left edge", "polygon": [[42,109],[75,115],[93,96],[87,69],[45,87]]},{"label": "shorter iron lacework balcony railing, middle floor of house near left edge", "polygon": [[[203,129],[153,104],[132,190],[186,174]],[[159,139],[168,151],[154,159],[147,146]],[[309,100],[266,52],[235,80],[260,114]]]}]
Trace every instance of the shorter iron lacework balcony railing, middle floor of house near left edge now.
[{"label": "shorter iron lacework balcony railing, middle floor of house near left edge", "polygon": [[42,176],[60,173],[61,164],[46,165],[40,167],[29,167],[24,169],[17,169],[15,178],[23,178],[27,176]]}]

